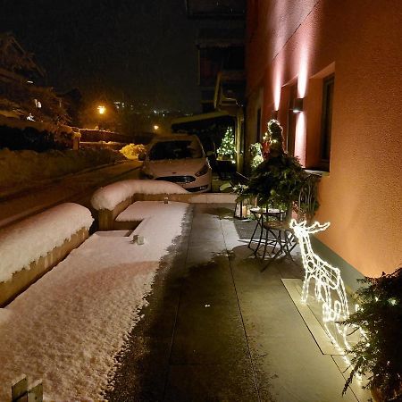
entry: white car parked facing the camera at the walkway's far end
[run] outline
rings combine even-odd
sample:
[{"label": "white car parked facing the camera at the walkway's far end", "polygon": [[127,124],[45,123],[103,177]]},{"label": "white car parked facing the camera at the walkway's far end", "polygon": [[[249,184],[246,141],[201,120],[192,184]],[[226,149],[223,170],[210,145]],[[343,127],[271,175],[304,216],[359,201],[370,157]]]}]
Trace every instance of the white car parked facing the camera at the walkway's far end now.
[{"label": "white car parked facing the camera at the walkway's far end", "polygon": [[211,189],[212,169],[195,135],[155,138],[147,147],[141,172],[147,179],[172,181],[191,192]]}]

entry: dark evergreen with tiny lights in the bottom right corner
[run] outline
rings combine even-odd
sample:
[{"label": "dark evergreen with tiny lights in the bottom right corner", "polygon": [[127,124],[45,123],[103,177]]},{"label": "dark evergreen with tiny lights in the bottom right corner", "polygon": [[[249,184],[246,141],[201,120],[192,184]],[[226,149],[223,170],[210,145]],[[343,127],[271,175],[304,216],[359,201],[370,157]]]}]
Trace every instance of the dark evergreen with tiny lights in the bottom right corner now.
[{"label": "dark evergreen with tiny lights in the bottom right corner", "polygon": [[359,308],[342,322],[362,330],[362,337],[348,354],[355,374],[368,374],[364,388],[372,389],[376,400],[402,401],[402,267],[380,278],[361,280],[357,290]]}]

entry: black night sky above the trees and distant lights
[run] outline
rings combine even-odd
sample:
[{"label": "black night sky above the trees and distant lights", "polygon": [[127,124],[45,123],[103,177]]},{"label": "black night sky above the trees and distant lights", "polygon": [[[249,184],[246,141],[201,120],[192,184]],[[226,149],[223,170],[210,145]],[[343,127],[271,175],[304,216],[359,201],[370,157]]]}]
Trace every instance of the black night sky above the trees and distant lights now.
[{"label": "black night sky above the trees and distant lights", "polygon": [[12,31],[47,84],[151,108],[199,112],[197,21],[183,0],[1,0]]}]

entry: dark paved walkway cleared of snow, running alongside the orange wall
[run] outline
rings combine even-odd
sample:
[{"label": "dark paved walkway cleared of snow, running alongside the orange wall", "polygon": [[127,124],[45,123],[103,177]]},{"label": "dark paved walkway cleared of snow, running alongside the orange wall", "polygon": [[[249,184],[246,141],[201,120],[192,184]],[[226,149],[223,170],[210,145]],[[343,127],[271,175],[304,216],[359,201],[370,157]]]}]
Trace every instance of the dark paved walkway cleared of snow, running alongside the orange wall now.
[{"label": "dark paved walkway cleared of snow, running alongside the orange wall", "polygon": [[302,269],[280,260],[260,272],[231,208],[192,206],[107,398],[356,401],[350,390],[341,396],[337,357],[322,354],[283,286]]}]

